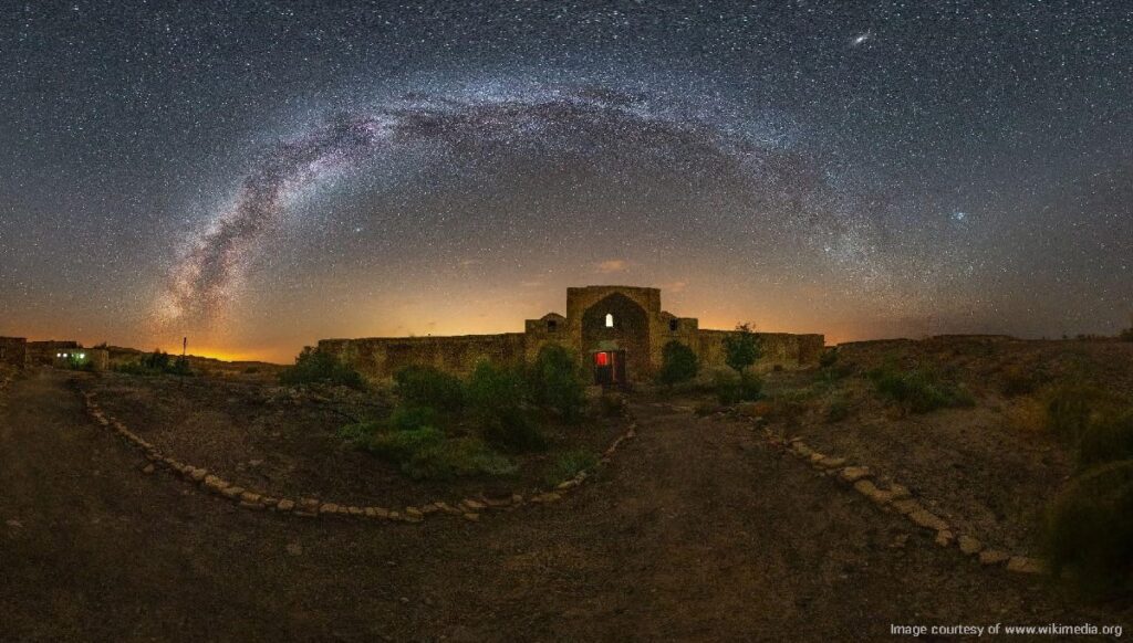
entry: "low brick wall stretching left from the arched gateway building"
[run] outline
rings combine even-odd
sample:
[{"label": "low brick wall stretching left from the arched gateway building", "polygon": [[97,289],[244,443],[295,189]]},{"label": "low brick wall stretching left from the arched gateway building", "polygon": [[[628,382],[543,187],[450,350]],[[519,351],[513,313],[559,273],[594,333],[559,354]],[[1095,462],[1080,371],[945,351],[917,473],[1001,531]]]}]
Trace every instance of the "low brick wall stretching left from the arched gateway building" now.
[{"label": "low brick wall stretching left from the arched gateway building", "polygon": [[467,375],[476,362],[521,363],[527,357],[523,333],[458,335],[453,337],[365,337],[321,340],[318,350],[338,355],[374,379],[392,377],[410,365],[433,366]]}]

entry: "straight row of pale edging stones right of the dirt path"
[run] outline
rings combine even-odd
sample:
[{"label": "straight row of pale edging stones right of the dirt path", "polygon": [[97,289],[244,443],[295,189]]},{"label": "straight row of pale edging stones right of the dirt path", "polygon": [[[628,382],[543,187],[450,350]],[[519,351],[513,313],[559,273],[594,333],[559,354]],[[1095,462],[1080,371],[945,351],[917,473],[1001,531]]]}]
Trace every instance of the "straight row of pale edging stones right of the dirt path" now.
[{"label": "straight row of pale edging stones right of the dirt path", "polygon": [[[752,429],[758,428],[760,423],[758,419],[742,413],[738,413],[736,417],[751,423]],[[772,445],[785,448],[787,453],[809,463],[815,470],[825,475],[837,477],[838,480],[852,486],[854,491],[870,499],[883,511],[896,511],[918,528],[935,532],[935,541],[940,547],[947,548],[955,545],[965,556],[978,559],[985,566],[1005,566],[1008,571],[1021,574],[1049,573],[1049,566],[1040,558],[1012,555],[1003,549],[988,546],[973,534],[956,533],[956,530],[953,530],[947,521],[934,514],[920,500],[913,498],[909,488],[904,485],[893,482],[883,489],[879,486],[879,480],[869,466],[847,464],[844,457],[820,453],[803,441],[802,438],[794,437],[787,439],[785,436],[776,434],[767,427],[763,427],[763,434]]]}]

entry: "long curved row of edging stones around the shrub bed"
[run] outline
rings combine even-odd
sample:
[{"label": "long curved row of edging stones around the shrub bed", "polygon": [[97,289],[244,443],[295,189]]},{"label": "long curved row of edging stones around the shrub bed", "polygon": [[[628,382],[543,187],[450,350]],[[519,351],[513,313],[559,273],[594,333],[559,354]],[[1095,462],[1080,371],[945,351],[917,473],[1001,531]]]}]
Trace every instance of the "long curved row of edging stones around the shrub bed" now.
[{"label": "long curved row of edging stones around the shrub bed", "polygon": [[[140,451],[145,458],[150,461],[150,464],[142,469],[143,473],[152,474],[159,469],[164,469],[173,475],[178,475],[184,482],[190,483],[219,498],[233,501],[238,507],[249,511],[269,511],[307,518],[346,517],[372,520],[376,522],[401,523],[419,523],[429,516],[458,516],[468,521],[478,521],[480,520],[480,514],[488,511],[514,511],[523,505],[545,505],[555,503],[562,499],[563,495],[579,488],[590,475],[594,474],[594,470],[580,471],[573,478],[559,483],[554,488],[539,491],[530,497],[525,497],[521,494],[512,494],[510,498],[465,498],[463,500],[452,504],[437,500],[420,506],[408,506],[402,509],[331,503],[321,500],[314,496],[301,496],[296,498],[274,497],[258,490],[246,489],[233,482],[224,480],[207,469],[186,464],[172,456],[161,453],[154,445],[129,430],[129,428],[127,428],[121,421],[108,415],[99,405],[94,393],[83,389],[82,386],[78,386],[78,391],[83,396],[87,414],[90,414],[95,422],[113,430],[121,438],[123,438],[128,445]],[[597,466],[600,468],[610,464],[610,461],[617,448],[624,444],[625,440],[633,439],[637,436],[637,422],[632,417],[629,417],[628,419],[629,428],[606,448],[602,457],[598,460]]]}]

